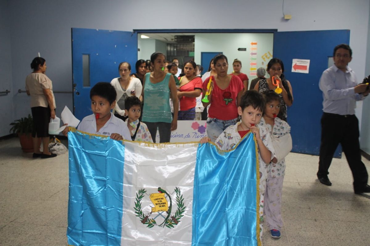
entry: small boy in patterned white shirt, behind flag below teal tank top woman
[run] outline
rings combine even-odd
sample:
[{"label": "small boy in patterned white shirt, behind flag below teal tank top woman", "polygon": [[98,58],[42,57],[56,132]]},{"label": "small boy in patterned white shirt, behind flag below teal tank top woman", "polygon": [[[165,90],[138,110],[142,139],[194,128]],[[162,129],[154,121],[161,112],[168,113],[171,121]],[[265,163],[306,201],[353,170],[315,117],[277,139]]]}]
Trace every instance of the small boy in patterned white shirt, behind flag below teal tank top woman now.
[{"label": "small boy in patterned white shirt, behind flag below teal tank top woman", "polygon": [[139,121],[141,115],[141,101],[132,96],[125,99],[125,114],[128,116],[125,123],[131,134],[132,141],[153,142],[147,125]]}]

